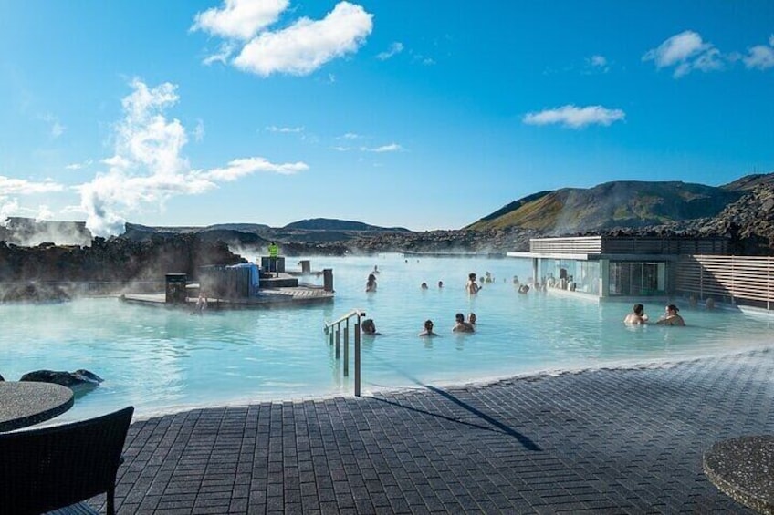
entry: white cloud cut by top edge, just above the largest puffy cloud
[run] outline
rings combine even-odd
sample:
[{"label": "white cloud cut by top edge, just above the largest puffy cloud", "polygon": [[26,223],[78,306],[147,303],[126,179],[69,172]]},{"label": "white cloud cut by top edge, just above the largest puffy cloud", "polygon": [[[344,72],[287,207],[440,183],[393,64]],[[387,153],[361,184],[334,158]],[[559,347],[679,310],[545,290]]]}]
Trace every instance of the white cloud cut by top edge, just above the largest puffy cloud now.
[{"label": "white cloud cut by top edge, just above the largest puffy cloud", "polygon": [[217,9],[197,13],[191,30],[214,36],[247,40],[277,21],[288,8],[288,0],[225,0]]}]

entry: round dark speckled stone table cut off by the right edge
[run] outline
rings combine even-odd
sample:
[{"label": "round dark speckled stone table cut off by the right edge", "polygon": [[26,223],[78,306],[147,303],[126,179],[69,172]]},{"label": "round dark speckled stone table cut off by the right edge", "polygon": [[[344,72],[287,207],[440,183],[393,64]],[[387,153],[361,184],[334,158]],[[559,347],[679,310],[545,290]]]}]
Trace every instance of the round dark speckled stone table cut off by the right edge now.
[{"label": "round dark speckled stone table cut off by the right edge", "polygon": [[760,513],[774,513],[774,436],[731,438],[704,453],[717,489]]}]

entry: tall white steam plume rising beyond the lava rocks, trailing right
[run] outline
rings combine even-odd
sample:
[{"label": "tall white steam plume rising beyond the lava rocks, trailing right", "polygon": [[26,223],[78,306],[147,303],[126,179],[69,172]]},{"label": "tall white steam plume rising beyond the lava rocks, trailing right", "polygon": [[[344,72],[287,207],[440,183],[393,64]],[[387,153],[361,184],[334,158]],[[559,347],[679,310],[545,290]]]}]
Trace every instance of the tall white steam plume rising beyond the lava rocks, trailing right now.
[{"label": "tall white steam plume rising beyond the lava rocks, trailing right", "polygon": [[86,226],[97,236],[120,234],[127,214],[163,210],[172,197],[211,191],[218,181],[255,171],[287,174],[308,168],[304,163],[245,158],[222,169],[192,171],[182,153],[188,141],[185,129],[179,120],[165,117],[165,110],[178,101],[177,88],[170,83],[148,88],[140,80],[131,87],[122,101],[124,118],[115,127],[115,154],[102,160],[108,170],[76,187]]}]

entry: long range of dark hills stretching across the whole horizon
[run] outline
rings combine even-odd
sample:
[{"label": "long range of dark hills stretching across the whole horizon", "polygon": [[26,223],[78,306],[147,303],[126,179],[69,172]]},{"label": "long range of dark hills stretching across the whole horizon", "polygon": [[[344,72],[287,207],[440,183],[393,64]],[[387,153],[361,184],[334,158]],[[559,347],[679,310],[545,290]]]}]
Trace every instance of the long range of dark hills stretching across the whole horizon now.
[{"label": "long range of dark hills stretching across the whole horizon", "polygon": [[[260,255],[271,241],[279,243],[286,255],[340,255],[505,252],[526,250],[529,238],[599,233],[727,236],[737,253],[774,255],[774,173],[748,175],[721,186],[622,180],[588,189],[539,191],[461,230],[411,232],[321,218],[280,228],[259,223],[206,227],[127,223],[120,239],[157,244],[195,235],[202,242],[225,242],[245,255]],[[17,246],[48,242],[88,246],[92,239],[82,221],[10,218],[0,225],[0,241]]]}]

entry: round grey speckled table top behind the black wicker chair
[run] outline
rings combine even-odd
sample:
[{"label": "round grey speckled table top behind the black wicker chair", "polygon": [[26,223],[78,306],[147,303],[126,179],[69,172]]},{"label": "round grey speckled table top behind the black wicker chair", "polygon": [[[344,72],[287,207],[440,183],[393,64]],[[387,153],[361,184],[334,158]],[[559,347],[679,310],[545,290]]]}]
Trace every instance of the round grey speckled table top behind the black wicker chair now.
[{"label": "round grey speckled table top behind the black wicker chair", "polygon": [[67,386],[33,381],[0,381],[0,432],[57,417],[73,405]]}]

